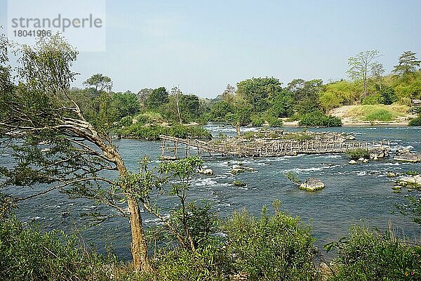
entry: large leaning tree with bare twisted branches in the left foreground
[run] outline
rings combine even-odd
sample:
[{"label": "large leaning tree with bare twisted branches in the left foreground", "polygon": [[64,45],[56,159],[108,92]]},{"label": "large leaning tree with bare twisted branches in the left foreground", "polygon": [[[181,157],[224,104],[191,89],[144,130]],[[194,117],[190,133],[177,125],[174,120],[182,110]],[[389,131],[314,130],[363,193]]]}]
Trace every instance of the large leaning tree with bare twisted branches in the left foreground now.
[{"label": "large leaning tree with bare twisted branches in the left foreground", "polygon": [[[134,268],[149,270],[138,201],[142,192],[130,182],[102,176],[104,171],[114,171],[124,179],[129,172],[109,132],[87,122],[69,96],[75,77],[70,68],[77,52],[58,34],[18,51],[18,86],[8,88],[2,81],[0,89],[1,145],[13,150],[16,163],[0,167],[1,186],[34,188],[31,195],[11,196],[14,202],[60,190],[71,197],[86,197],[113,207],[116,213],[94,215],[100,221],[128,217]],[[128,209],[116,204],[121,200]]]}]

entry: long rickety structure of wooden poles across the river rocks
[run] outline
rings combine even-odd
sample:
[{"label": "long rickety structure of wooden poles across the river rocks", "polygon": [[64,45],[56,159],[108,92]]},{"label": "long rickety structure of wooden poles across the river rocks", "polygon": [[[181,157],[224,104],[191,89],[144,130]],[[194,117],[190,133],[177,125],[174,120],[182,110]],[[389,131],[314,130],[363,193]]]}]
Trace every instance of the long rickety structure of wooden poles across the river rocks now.
[{"label": "long rickety structure of wooden poles across the river rocks", "polygon": [[389,141],[335,141],[332,140],[262,140],[230,143],[227,141],[200,141],[196,139],[161,138],[161,157],[163,159],[179,159],[190,155],[215,157],[281,157],[298,154],[345,153],[355,148],[366,150],[374,148],[390,148]]}]

